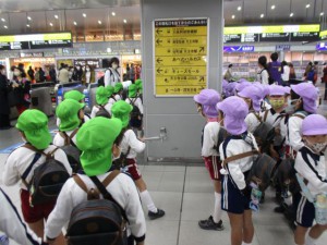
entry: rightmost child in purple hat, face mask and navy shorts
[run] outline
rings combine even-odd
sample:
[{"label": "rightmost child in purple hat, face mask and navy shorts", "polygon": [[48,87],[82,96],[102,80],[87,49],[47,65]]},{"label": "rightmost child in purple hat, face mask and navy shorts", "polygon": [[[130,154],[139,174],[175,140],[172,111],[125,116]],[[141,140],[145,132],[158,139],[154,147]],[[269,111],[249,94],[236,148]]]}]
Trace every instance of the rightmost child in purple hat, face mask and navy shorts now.
[{"label": "rightmost child in purple hat, face mask and navy shorts", "polygon": [[[295,170],[304,177],[312,196],[327,194],[327,169],[324,156],[327,148],[327,120],[323,115],[311,114],[303,120],[301,132],[304,146],[296,155]],[[315,206],[308,201],[302,189],[302,193],[294,197],[298,224],[294,240],[298,245],[315,245],[327,230],[327,224],[316,223],[313,226]],[[310,228],[312,229],[306,234]]]}]

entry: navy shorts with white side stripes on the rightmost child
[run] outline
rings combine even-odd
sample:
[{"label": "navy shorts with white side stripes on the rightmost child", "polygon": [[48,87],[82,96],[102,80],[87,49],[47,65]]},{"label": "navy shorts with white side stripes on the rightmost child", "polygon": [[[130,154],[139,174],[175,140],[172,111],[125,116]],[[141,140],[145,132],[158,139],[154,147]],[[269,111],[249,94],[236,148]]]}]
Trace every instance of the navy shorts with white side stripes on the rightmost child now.
[{"label": "navy shorts with white side stripes on the rightmost child", "polygon": [[316,211],[313,203],[310,203],[301,193],[294,195],[294,208],[296,223],[303,228],[311,228],[315,220]]}]

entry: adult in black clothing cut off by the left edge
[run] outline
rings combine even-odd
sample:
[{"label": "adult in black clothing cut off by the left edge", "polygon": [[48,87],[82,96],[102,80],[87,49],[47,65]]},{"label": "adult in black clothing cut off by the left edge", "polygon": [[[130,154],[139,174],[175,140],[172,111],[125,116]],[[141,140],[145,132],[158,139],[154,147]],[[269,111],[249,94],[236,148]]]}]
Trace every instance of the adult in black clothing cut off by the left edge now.
[{"label": "adult in black clothing cut off by the left edge", "polygon": [[5,76],[5,68],[0,64],[0,130],[10,128],[10,107],[8,101],[8,81]]}]

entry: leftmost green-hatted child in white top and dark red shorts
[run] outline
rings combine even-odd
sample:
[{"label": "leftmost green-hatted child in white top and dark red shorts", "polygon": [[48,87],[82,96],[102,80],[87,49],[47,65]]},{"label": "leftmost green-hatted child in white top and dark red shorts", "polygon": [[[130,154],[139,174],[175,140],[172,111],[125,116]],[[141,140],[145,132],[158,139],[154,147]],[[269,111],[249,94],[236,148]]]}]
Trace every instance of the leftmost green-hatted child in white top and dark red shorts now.
[{"label": "leftmost green-hatted child in white top and dark red shorts", "polygon": [[[35,147],[37,150],[50,154],[56,149],[55,146],[50,145],[52,137],[49,133],[48,118],[45,113],[38,110],[26,110],[20,115],[16,127],[21,132],[23,140]],[[57,149],[53,156],[55,159],[64,166],[68,173],[71,175],[72,169],[64,152],[61,149]],[[32,164],[34,159],[36,159],[35,157],[35,150],[24,146],[14,150],[4,164],[4,172],[2,175],[3,183],[8,186],[16,184],[22,179],[26,169],[31,168],[31,171],[24,181],[25,183],[29,183],[34,170],[46,161],[46,156],[40,155],[39,159]],[[44,237],[44,222],[52,211],[56,201],[38,204],[32,207],[29,204],[29,192],[23,182],[21,183],[21,201],[25,222],[37,236]],[[64,244],[62,235],[58,240],[58,244]]]}]

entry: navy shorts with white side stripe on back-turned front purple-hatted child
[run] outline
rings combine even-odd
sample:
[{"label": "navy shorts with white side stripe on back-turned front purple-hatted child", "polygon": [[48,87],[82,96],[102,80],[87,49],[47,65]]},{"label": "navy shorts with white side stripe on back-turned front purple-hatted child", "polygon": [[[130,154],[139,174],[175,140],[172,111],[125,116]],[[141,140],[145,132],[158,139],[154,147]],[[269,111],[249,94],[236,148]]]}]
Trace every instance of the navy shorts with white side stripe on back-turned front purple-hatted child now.
[{"label": "navy shorts with white side stripe on back-turned front purple-hatted child", "polygon": [[221,181],[221,209],[242,215],[245,210],[250,210],[251,192],[244,196],[237,184],[233,183],[230,175],[222,175]]}]

